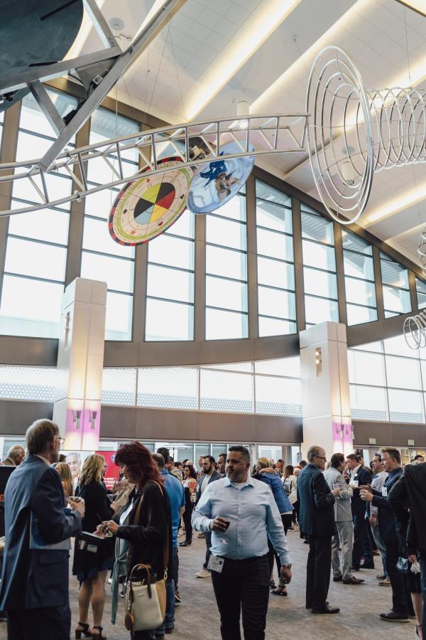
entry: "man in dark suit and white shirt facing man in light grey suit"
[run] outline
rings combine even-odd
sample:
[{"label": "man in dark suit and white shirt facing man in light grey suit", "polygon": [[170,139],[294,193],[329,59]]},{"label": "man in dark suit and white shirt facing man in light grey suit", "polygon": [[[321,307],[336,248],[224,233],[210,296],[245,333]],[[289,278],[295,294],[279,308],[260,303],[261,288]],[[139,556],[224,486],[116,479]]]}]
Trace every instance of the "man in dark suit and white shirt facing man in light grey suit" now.
[{"label": "man in dark suit and white shirt facing man in light grey suit", "polygon": [[[374,569],[373,550],[371,549],[369,522],[366,518],[366,503],[361,500],[359,487],[371,484],[373,474],[359,463],[355,454],[346,456],[346,464],[351,471],[349,484],[352,486],[352,518],[354,520],[354,549],[352,551],[352,571],[359,571],[361,558],[364,555],[365,569]],[[367,538],[368,536],[368,538]]]}]

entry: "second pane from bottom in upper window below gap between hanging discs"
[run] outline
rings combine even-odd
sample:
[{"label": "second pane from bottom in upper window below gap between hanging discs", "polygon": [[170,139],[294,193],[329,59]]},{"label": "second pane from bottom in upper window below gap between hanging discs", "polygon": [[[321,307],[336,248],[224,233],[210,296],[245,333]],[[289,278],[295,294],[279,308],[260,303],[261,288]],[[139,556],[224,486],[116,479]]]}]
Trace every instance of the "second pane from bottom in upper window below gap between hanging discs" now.
[{"label": "second pane from bottom in upper window below gap between hanging discs", "polygon": [[147,294],[180,302],[194,302],[194,274],[148,265]]}]

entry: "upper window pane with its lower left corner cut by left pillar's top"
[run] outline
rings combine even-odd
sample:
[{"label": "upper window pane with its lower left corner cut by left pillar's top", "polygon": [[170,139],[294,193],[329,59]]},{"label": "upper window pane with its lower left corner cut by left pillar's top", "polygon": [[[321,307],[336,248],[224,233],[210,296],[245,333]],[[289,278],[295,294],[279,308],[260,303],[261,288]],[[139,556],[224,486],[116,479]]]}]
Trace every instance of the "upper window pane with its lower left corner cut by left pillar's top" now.
[{"label": "upper window pane with its lower left corner cut by left pillar's top", "polygon": [[133,292],[133,261],[107,255],[82,253],[82,278],[107,282],[108,289]]}]

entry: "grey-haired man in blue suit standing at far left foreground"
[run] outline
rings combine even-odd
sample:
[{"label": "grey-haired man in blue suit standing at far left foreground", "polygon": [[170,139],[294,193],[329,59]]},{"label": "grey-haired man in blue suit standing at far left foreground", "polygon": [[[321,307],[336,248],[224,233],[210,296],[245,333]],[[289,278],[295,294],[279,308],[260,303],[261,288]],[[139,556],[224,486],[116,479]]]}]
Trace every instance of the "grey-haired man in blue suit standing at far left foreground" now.
[{"label": "grey-haired man in blue suit standing at far left foreground", "polygon": [[80,533],[84,501],[70,503],[65,514],[60,476],[50,466],[61,442],[54,422],[34,422],[26,432],[28,456],[6,486],[0,609],[9,640],[70,639],[66,540]]}]

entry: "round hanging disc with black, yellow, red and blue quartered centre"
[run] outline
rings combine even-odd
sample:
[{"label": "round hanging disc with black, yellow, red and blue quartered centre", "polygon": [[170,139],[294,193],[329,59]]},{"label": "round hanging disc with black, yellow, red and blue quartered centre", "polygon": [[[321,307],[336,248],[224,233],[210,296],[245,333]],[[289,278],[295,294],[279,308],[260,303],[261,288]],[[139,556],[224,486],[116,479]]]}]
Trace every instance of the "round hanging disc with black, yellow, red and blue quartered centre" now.
[{"label": "round hanging disc with black, yellow, red and blue quartered centre", "polygon": [[[133,180],[116,197],[109,215],[109,233],[120,245],[149,242],[178,220],[187,206],[192,169],[180,158],[164,158],[167,171]],[[149,171],[149,169],[145,169]]]}]

